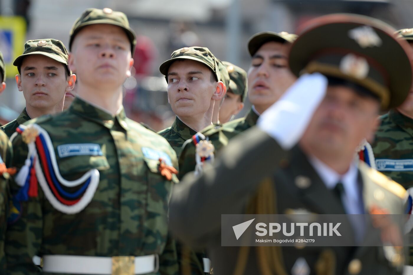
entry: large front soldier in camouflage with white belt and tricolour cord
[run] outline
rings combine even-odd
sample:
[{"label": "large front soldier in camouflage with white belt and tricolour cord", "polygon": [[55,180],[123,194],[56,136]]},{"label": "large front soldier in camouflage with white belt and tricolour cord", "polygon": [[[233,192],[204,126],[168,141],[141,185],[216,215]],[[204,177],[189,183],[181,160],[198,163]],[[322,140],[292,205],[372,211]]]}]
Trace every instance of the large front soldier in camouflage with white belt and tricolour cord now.
[{"label": "large front soldier in camouflage with white belt and tricolour cord", "polygon": [[9,274],[39,272],[36,256],[46,274],[178,272],[168,237],[176,154],[122,106],[135,44],[122,12],[86,9],[74,23],[78,97],[68,111],[20,126],[14,139],[20,217],[9,218]]}]

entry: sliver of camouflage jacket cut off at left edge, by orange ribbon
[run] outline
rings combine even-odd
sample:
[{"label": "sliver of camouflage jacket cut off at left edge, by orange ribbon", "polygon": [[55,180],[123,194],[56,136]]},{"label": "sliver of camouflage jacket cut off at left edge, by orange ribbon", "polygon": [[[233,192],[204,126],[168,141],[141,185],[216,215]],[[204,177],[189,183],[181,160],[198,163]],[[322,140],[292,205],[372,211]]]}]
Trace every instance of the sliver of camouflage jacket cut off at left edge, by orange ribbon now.
[{"label": "sliver of camouflage jacket cut off at left edge, by orange ribbon", "polygon": [[[0,156],[7,167],[10,165],[12,156],[12,145],[7,135],[0,131]],[[5,232],[7,225],[7,215],[9,210],[9,175],[3,173],[0,176],[0,270],[6,270],[6,258],[4,253]],[[2,273],[2,272],[0,272]]]}]

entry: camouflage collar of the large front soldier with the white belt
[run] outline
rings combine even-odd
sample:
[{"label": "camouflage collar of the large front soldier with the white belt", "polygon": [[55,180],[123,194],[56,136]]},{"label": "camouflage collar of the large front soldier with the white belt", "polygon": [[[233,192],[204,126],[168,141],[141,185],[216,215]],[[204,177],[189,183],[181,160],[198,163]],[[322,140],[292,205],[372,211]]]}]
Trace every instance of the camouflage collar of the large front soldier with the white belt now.
[{"label": "camouflage collar of the large front soldier with the white belt", "polygon": [[123,129],[128,130],[125,109],[123,109],[123,106],[119,109],[115,116],[112,116],[112,114],[93,106],[80,97],[76,97],[70,105],[69,111],[82,116],[85,119],[95,121],[96,123],[99,123],[109,129],[114,126],[116,119]]}]

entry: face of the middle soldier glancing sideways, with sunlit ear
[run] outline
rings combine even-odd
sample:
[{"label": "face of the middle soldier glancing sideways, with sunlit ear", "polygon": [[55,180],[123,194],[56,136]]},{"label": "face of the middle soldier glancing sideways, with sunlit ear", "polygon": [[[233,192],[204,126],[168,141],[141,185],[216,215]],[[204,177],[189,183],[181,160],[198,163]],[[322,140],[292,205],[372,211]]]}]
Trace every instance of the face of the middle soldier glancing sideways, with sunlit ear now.
[{"label": "face of the middle soldier glancing sideways, with sunlit ear", "polygon": [[211,70],[200,62],[177,60],[168,70],[168,100],[180,117],[204,116],[217,100],[217,81],[211,81]]}]

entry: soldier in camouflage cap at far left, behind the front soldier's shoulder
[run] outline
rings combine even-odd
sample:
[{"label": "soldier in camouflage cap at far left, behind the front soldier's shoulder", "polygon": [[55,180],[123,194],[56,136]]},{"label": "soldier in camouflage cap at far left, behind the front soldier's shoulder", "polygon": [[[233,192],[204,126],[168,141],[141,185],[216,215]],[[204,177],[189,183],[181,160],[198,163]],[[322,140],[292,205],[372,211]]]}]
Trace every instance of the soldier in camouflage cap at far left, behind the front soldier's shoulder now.
[{"label": "soldier in camouflage cap at far left, behind the front soldier's shoulder", "polygon": [[68,52],[60,40],[28,40],[24,44],[23,54],[13,64],[19,71],[17,88],[23,92],[26,107],[17,119],[1,127],[8,137],[30,119],[62,112],[65,92],[70,92],[76,81],[67,59]]}]

